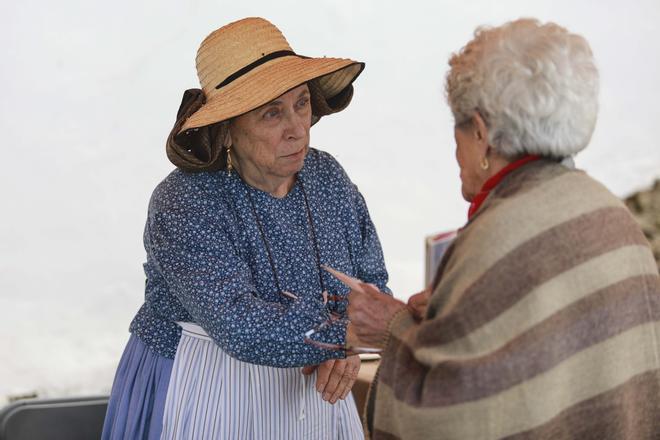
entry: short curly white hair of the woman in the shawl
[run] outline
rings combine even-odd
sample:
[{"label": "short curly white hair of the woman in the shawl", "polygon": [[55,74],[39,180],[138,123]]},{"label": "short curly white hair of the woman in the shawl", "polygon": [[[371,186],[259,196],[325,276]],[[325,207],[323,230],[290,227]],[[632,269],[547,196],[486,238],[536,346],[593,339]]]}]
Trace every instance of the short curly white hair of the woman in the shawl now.
[{"label": "short curly white hair of the woman in the shawl", "polygon": [[499,154],[561,158],[589,143],[598,69],[582,36],[535,19],[479,27],[449,65],[445,91],[455,123],[478,112]]}]

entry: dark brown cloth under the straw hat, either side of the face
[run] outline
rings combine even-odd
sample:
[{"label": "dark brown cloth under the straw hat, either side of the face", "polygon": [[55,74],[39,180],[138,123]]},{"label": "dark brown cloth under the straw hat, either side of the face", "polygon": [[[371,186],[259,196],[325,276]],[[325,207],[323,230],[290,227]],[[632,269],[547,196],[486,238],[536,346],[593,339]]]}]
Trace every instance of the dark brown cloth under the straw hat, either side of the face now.
[{"label": "dark brown cloth under the straw hat, either side of the face", "polygon": [[[319,80],[307,82],[312,106],[312,125],[322,116],[345,109],[353,97],[353,86],[349,85],[339,94],[326,97]],[[226,167],[227,154],[223,140],[227,137],[228,125],[215,123],[182,132],[186,120],[199,110],[206,98],[201,89],[189,89],[183,93],[176,122],[167,137],[167,158],[176,167],[185,171],[218,171]]]}]

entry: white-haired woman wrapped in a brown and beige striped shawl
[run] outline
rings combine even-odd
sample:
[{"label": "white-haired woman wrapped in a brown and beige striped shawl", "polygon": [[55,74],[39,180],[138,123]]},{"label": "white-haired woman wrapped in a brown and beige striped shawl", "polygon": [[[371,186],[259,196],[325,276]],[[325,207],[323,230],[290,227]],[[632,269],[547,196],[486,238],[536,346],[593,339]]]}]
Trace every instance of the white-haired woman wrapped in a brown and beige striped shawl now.
[{"label": "white-haired woman wrapped in a brown and beige striped shawl", "polygon": [[384,349],[371,437],[659,438],[653,254],[566,160],[596,124],[587,41],[522,19],[479,28],[449,64],[467,224],[408,304],[349,294],[348,342]]}]

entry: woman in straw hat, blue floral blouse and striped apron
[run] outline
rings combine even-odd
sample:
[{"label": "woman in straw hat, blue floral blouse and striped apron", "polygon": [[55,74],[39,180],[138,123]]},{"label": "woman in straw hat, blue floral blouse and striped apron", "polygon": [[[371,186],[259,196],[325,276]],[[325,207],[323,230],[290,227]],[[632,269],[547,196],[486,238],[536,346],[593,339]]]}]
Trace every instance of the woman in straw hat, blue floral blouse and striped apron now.
[{"label": "woman in straw hat, blue floral blouse and striped apron", "polygon": [[363,68],[298,55],[260,18],[202,42],[202,90],[186,91],[167,141],[178,169],[149,204],[145,302],[104,439],[364,437],[360,360],[337,319],[348,289],[323,266],[390,293],[387,272],[361,194],[309,146]]}]

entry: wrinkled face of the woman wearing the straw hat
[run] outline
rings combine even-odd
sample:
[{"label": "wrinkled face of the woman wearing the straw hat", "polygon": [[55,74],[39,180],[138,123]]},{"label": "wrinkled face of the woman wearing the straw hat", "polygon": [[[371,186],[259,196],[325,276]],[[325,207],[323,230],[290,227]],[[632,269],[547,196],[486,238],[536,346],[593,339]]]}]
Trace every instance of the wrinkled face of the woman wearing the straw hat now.
[{"label": "wrinkled face of the woman wearing the straw hat", "polygon": [[229,126],[232,155],[245,173],[277,181],[294,176],[309,148],[312,107],[307,84],[249,113]]}]

